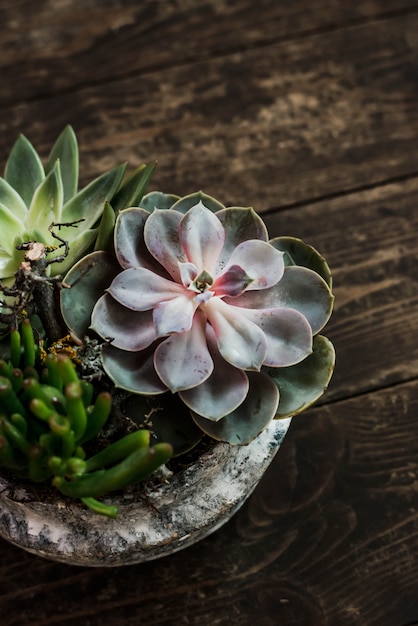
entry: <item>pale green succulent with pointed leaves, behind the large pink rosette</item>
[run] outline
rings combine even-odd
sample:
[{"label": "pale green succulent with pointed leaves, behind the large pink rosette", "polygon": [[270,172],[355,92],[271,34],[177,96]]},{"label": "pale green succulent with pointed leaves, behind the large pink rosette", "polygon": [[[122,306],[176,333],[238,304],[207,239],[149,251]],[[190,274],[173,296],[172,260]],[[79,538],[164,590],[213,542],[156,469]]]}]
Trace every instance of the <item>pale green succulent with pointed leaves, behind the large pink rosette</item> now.
[{"label": "pale green succulent with pointed leaves, behind the large pink rosette", "polygon": [[[69,244],[69,253],[62,263],[50,264],[51,275],[67,271],[93,249],[98,237],[102,247],[113,229],[115,212],[140,201],[154,167],[143,165],[123,181],[122,164],[79,190],[78,144],[70,126],[56,140],[45,166],[21,135],[0,178],[0,279],[13,280],[23,260],[17,248],[22,243],[37,241],[51,250],[59,245],[51,232],[54,224]],[[50,258],[54,255],[61,253]]]}]

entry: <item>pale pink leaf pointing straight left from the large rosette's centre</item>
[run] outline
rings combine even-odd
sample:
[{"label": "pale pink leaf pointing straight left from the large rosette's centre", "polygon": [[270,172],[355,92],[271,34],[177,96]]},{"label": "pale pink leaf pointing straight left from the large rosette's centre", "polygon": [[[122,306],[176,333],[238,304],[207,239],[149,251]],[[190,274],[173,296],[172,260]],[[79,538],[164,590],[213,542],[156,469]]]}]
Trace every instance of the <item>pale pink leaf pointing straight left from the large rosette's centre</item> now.
[{"label": "pale pink leaf pointing straight left from the large rosette's centre", "polygon": [[130,267],[118,274],[109,287],[112,296],[133,311],[147,311],[159,302],[185,293],[183,285],[157,276],[144,267]]}]

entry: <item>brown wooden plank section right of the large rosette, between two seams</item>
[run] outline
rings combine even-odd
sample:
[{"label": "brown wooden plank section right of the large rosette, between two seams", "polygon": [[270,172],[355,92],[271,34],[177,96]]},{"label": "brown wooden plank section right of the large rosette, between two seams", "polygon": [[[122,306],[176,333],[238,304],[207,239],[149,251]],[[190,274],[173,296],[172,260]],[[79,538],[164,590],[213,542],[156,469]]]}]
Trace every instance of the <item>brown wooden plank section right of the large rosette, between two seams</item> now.
[{"label": "brown wooden plank section right of the large rosette, between two seams", "polygon": [[333,269],[326,401],[418,376],[417,198],[413,179],[265,216],[270,236],[305,240]]}]

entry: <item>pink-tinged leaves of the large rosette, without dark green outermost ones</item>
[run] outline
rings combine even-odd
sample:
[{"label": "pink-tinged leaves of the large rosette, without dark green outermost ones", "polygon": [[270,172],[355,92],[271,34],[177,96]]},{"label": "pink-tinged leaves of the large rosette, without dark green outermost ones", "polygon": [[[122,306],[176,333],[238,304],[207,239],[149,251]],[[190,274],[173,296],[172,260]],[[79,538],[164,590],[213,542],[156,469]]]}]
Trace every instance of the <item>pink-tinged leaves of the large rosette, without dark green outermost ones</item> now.
[{"label": "pink-tinged leaves of the large rosette, without dark green outermost ones", "polygon": [[311,355],[333,297],[312,269],[285,266],[252,209],[176,206],[120,212],[122,271],[94,306],[91,327],[107,341],[103,366],[117,387],[177,393],[211,435],[220,421],[225,430],[256,416],[245,443],[277,415],[271,372]]}]

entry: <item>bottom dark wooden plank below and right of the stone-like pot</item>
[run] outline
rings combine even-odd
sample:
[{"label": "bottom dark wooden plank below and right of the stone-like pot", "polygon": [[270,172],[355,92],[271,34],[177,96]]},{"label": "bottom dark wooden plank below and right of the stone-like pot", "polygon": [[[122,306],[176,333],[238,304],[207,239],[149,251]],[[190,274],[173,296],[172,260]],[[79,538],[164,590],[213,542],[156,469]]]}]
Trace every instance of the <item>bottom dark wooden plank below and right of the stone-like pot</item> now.
[{"label": "bottom dark wooden plank below and right of the stone-like pot", "polygon": [[161,561],[76,568],[1,542],[2,625],[412,622],[417,411],[414,382],[295,418],[235,518]]}]

